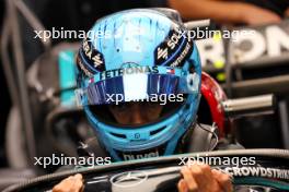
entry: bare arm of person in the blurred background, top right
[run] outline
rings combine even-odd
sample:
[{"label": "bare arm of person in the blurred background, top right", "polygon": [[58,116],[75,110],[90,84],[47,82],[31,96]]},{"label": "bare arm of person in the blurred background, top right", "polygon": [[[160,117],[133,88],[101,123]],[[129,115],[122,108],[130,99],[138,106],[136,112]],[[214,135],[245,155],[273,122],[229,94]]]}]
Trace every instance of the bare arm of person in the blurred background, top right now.
[{"label": "bare arm of person in the blurred background, top right", "polygon": [[231,24],[265,24],[280,21],[277,14],[268,10],[242,2],[222,0],[167,0],[167,2],[187,20],[212,19]]}]

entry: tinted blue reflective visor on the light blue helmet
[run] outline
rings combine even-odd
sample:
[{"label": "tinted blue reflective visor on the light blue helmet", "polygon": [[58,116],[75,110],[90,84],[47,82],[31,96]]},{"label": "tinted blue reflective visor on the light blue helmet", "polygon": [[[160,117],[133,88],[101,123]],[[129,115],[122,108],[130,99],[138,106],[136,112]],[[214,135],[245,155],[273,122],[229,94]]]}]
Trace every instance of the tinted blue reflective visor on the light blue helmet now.
[{"label": "tinted blue reflective visor on the light blue helmet", "polygon": [[[183,74],[181,70],[161,73],[136,73],[100,80],[88,80],[86,88],[78,89],[84,96],[82,105],[119,104],[125,101],[159,101],[161,97],[174,98],[177,94],[198,92],[199,76],[196,73]],[[99,79],[99,80],[97,80]],[[172,101],[172,100],[170,100]]]}]

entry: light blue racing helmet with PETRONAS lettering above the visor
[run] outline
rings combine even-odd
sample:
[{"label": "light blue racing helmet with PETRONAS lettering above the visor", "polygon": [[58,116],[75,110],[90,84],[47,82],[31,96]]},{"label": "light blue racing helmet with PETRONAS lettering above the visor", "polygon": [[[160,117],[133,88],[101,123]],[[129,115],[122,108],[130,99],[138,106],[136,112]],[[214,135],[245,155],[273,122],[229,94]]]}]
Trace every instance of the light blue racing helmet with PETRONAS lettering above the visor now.
[{"label": "light blue racing helmet with PETRONAS lettering above the visor", "polygon": [[[77,64],[77,95],[100,143],[115,160],[176,153],[196,120],[201,76],[197,47],[183,23],[148,9],[111,14],[88,33]],[[117,124],[104,109],[171,94],[184,94],[184,101],[158,121],[134,128]]]}]

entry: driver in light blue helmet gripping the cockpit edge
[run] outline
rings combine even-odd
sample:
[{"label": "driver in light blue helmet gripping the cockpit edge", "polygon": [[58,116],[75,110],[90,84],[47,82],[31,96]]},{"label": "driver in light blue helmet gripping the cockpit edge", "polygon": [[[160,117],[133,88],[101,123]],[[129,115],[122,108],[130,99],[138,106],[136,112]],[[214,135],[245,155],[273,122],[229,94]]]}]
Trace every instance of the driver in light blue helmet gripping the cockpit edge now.
[{"label": "driver in light blue helmet gripping the cockpit edge", "polygon": [[[77,55],[76,93],[96,136],[80,147],[81,155],[93,153],[120,161],[226,148],[213,136],[206,146],[193,139],[216,134],[209,131],[211,127],[197,123],[201,80],[197,47],[180,17],[169,12],[137,9],[114,13],[97,20],[91,29],[113,32],[113,36],[88,33]],[[183,94],[183,99],[173,100],[176,94]],[[162,105],[152,95],[170,99]],[[232,191],[230,177],[208,165],[184,166],[181,172],[180,192]],[[82,176],[76,175],[53,191],[83,189]]]}]

